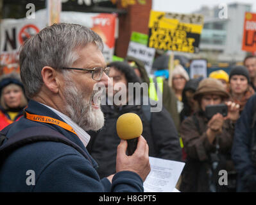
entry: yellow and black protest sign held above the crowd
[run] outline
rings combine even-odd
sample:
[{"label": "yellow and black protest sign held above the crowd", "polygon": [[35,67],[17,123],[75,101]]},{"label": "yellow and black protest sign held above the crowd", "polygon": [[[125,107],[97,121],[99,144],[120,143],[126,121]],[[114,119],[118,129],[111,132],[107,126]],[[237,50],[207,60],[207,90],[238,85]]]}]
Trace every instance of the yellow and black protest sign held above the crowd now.
[{"label": "yellow and black protest sign held above the crowd", "polygon": [[203,15],[151,10],[148,47],[196,53],[199,50]]}]

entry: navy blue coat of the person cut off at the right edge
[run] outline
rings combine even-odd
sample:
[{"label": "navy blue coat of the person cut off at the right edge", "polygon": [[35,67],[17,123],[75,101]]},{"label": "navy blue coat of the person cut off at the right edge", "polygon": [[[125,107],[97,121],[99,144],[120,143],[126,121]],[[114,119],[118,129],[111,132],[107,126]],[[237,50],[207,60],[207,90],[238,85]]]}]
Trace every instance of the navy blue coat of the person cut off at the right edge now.
[{"label": "navy blue coat of the person cut off at the right edge", "polygon": [[248,175],[256,176],[256,167],[251,160],[251,146],[252,146],[252,130],[256,129],[256,125],[252,127],[253,113],[256,104],[256,95],[250,97],[246,103],[241,117],[237,120],[235,125],[235,135],[232,146],[232,160],[238,172],[237,191],[244,190],[244,183],[242,178]]}]

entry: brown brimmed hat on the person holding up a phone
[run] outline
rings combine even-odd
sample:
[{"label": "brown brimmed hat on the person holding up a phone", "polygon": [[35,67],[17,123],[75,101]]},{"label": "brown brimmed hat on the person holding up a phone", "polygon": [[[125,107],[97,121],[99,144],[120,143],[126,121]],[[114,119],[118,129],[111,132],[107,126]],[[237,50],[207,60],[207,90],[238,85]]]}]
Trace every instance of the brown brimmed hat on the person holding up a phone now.
[{"label": "brown brimmed hat on the person holding up a phone", "polygon": [[201,95],[220,95],[223,98],[229,98],[230,94],[226,92],[221,81],[215,78],[205,78],[200,81],[196,92],[194,93],[194,99],[198,100]]}]

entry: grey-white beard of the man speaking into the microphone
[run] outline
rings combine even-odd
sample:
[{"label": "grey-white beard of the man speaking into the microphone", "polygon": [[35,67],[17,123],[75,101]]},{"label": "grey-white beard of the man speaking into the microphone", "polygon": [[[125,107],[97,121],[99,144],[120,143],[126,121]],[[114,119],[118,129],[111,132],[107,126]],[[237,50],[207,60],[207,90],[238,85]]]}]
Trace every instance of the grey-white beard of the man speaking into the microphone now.
[{"label": "grey-white beard of the man speaking into the microphone", "polygon": [[[78,90],[76,85],[69,79],[65,80],[65,91],[64,95],[66,97],[66,113],[78,126],[80,126],[85,131],[93,130],[97,131],[104,126],[104,115],[100,109],[100,94],[99,92],[92,92],[89,101],[85,100],[85,92]],[[94,97],[94,95],[99,97]],[[88,95],[88,94],[87,94]],[[99,106],[99,109],[92,107],[92,99]]]}]

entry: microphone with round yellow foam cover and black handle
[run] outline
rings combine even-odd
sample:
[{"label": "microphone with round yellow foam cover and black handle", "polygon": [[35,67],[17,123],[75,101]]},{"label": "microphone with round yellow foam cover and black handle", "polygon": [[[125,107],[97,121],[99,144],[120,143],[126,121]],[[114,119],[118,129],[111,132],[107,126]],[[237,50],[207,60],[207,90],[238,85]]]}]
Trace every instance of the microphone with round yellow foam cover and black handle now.
[{"label": "microphone with round yellow foam cover and black handle", "polygon": [[141,118],[135,113],[125,113],[117,119],[116,130],[119,138],[128,142],[128,156],[132,155],[143,130]]}]

